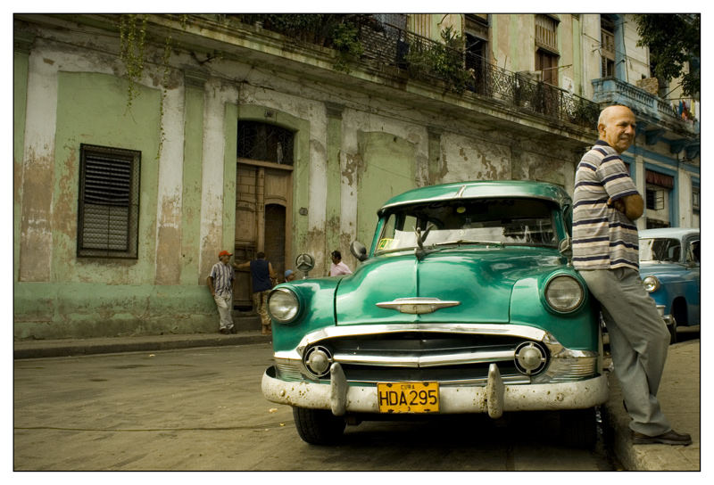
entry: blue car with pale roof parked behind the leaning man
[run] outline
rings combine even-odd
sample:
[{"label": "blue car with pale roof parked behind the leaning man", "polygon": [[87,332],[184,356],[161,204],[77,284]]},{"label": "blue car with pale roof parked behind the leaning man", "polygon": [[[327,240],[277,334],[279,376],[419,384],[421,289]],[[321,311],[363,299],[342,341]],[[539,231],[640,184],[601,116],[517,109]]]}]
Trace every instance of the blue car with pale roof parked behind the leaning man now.
[{"label": "blue car with pale roof parked behind the leaning man", "polygon": [[677,326],[700,325],[699,229],[646,229],[639,237],[640,277],[674,343]]}]

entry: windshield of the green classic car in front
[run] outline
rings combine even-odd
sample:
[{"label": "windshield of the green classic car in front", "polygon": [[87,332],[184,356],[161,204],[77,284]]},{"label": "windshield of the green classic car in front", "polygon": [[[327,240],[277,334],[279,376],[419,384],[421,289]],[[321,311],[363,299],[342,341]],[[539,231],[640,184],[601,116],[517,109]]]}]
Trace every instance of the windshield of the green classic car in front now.
[{"label": "windshield of the green classic car in front", "polygon": [[[555,247],[552,202],[540,199],[491,198],[421,202],[394,208],[386,216],[376,253],[417,246],[450,244],[517,244]],[[556,212],[557,213],[557,212]]]}]

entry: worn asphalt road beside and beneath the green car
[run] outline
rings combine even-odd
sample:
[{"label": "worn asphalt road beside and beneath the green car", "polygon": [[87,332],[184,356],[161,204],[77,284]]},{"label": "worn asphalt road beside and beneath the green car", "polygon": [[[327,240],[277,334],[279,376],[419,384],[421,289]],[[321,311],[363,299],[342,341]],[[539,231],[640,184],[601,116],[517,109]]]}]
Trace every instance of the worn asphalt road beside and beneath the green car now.
[{"label": "worn asphalt road beside and beneath the green car", "polygon": [[348,426],[335,447],[263,399],[267,344],[14,361],[16,471],[609,471],[566,448],[554,415]]}]

